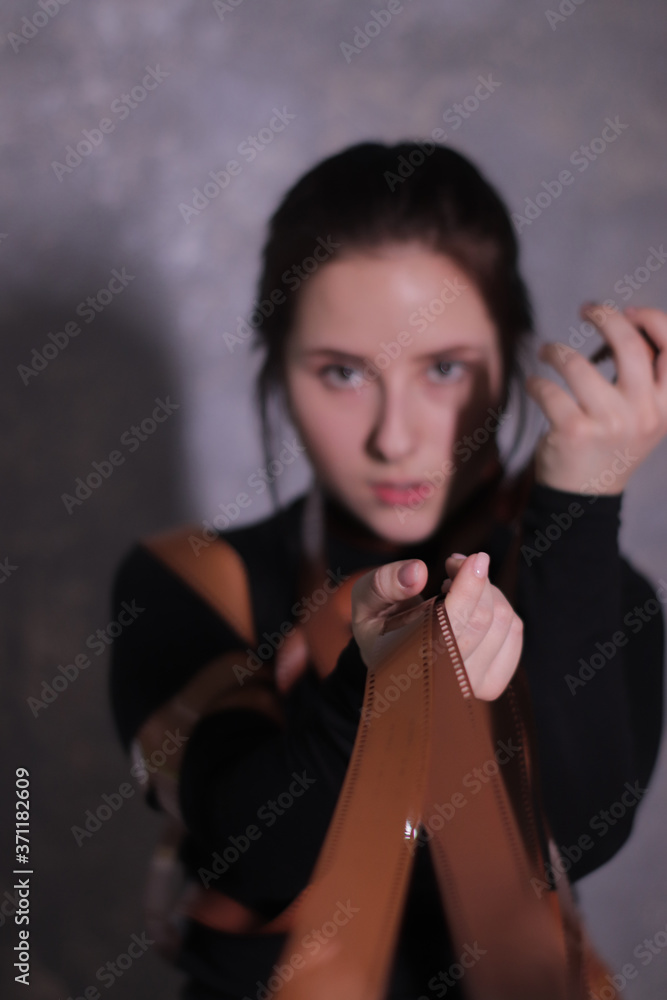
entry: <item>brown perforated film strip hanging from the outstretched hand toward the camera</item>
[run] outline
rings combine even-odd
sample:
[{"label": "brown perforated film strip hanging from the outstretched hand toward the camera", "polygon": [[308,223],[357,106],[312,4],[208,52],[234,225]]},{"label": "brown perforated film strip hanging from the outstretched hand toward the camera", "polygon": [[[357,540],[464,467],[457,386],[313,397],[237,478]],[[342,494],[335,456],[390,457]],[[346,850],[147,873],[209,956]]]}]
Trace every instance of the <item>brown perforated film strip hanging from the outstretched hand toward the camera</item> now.
[{"label": "brown perforated film strip hanging from the outstretched hand toward the camera", "polygon": [[[383,641],[338,804],[278,963],[294,970],[281,1000],[382,1000],[420,823],[466,773],[495,760],[496,703],[472,696],[442,596],[389,620]],[[400,677],[410,685],[374,711],[377,693]],[[516,741],[516,716],[498,714]],[[510,786],[498,766],[430,841],[455,951],[473,942],[484,951],[462,987],[471,1000],[583,1000],[581,949],[565,933],[556,894],[531,886],[531,877],[544,878],[544,862],[522,815],[528,802],[513,799]],[[349,919],[308,953],[303,942],[333,926],[341,906]]]}]

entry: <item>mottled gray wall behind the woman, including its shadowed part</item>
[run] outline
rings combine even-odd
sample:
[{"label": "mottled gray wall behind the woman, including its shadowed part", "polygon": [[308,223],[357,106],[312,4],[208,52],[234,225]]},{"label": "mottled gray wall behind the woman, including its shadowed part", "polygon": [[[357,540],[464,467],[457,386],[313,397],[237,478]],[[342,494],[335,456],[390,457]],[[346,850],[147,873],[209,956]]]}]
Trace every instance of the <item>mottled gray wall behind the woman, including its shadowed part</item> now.
[{"label": "mottled gray wall behind the woman, including its shadowed part", "polygon": [[[213,3],[188,0],[69,0],[57,11],[56,0],[44,2],[48,17],[36,0],[5,0],[0,13],[0,560],[17,567],[0,590],[1,791],[11,812],[14,770],[30,769],[27,995],[64,1000],[95,983],[143,929],[139,890],[157,822],[135,794],[81,846],[71,832],[103,793],[130,780],[110,722],[106,654],[92,655],[37,715],[28,698],[108,623],[110,575],[132,539],[215,515],[261,466],[249,394],[257,359],[246,345],[229,351],[222,334],[250,306],[263,225],[280,193],[352,141],[437,128],[515,212],[570,167],[573,183],[521,232],[540,336],[567,340],[580,303],[625,304],[615,284],[667,239],[667,25],[660,0],[564,0],[571,13],[560,20],[546,2],[406,0],[346,61],[341,43],[381,3],[235,0],[226,12],[218,4],[221,17]],[[22,24],[34,35],[26,44],[11,37]],[[165,75],[135,91],[125,114],[116,102],[149,68]],[[493,93],[458,127],[452,114],[443,121],[489,75]],[[294,118],[250,162],[239,146],[274,108]],[[627,127],[580,170],[570,157],[606,118]],[[108,131],[96,134],[104,119]],[[90,154],[79,164],[70,156],[67,171],[54,167],[67,166],[83,130],[93,130]],[[186,221],[179,204],[234,158],[241,172]],[[86,322],[79,303],[105,289],[113,269],[132,280]],[[667,307],[665,274],[653,273],[631,302]],[[49,333],[77,321],[80,333],[42,371],[19,370],[33,348],[52,344]],[[178,409],[130,451],[123,435],[166,396]],[[123,464],[68,512],[62,494],[114,450]],[[667,578],[666,456],[663,445],[624,500],[625,551],[654,581]],[[299,466],[281,480],[283,495],[307,478]],[[264,499],[244,518],[263,516]],[[663,754],[631,842],[581,884],[600,947],[616,967],[639,970],[623,990],[635,1000],[659,1000],[667,983],[667,949],[646,966],[633,955],[667,925],[666,763]],[[9,847],[0,854],[0,895],[12,885],[11,856]],[[11,919],[0,926],[5,955],[15,931]],[[114,996],[174,997],[177,983],[149,951]]]}]

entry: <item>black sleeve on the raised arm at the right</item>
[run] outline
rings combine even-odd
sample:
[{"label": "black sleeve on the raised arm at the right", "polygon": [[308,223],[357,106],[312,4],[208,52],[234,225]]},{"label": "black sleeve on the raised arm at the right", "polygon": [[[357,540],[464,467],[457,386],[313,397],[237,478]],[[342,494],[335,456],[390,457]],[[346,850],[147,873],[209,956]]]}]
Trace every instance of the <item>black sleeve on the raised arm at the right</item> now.
[{"label": "black sleeve on the raised arm at the right", "polygon": [[522,526],[522,665],[547,818],[561,849],[579,845],[573,879],[625,843],[662,727],[662,606],[619,553],[621,502],[536,484]]}]

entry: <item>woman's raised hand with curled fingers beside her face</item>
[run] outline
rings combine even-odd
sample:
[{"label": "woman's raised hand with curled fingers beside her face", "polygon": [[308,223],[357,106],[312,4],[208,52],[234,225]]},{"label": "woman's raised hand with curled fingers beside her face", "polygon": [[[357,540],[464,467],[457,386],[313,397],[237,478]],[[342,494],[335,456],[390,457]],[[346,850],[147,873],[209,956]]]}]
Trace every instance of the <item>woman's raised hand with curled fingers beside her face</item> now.
[{"label": "woman's raised hand with curled fingers beside her face", "polygon": [[[567,344],[542,346],[539,357],[563,377],[574,398],[550,379],[526,380],[528,394],[551,423],[537,446],[536,480],[571,493],[618,494],[667,433],[667,314],[592,305],[582,316],[610,345],[617,381],[608,382]],[[638,326],[660,349],[655,362]]]}]

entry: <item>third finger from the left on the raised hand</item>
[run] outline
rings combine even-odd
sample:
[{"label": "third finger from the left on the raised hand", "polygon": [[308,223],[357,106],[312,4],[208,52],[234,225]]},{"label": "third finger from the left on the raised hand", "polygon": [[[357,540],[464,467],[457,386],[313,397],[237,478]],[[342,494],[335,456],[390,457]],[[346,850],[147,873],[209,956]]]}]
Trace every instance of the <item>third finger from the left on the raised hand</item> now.
[{"label": "third finger from the left on the raised hand", "polygon": [[618,388],[629,398],[643,399],[653,384],[653,352],[636,326],[628,316],[593,303],[583,306],[581,315],[597,327],[610,345]]}]

